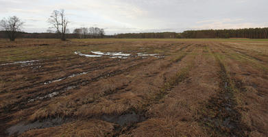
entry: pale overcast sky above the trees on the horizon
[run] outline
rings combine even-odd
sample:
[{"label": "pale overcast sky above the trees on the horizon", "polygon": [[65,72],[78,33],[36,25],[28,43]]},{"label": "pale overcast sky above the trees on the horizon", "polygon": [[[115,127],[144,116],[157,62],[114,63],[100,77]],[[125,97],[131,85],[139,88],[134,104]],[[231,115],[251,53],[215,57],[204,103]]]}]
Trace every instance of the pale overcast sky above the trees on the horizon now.
[{"label": "pale overcast sky above the trees on the horizon", "polygon": [[53,10],[75,27],[106,34],[268,27],[268,0],[0,0],[0,19],[18,16],[25,32],[46,32]]}]

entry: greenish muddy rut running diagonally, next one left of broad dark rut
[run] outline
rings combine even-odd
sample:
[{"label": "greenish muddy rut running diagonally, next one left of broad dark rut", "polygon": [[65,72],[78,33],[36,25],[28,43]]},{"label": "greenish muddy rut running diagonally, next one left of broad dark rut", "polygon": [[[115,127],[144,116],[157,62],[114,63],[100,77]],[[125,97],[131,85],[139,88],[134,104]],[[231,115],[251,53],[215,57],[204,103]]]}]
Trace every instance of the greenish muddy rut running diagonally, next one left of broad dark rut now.
[{"label": "greenish muddy rut running diagonally, next one left of broad dark rut", "polygon": [[[184,49],[187,49],[190,45],[186,46]],[[193,51],[195,52],[195,45],[191,45],[192,47],[190,49],[187,49],[187,51]],[[175,61],[173,61],[172,64],[168,64],[167,68],[165,70],[162,70],[162,73],[171,73],[171,70],[174,70],[176,67],[178,67],[178,65],[180,65],[180,61],[182,61],[184,58],[186,58],[187,53],[183,53],[182,55],[180,55],[179,58],[175,58]],[[183,82],[187,77],[188,77],[188,73],[189,71],[191,71],[191,68],[193,67],[193,64],[191,64],[190,62],[188,62],[188,65],[186,65],[184,68],[177,68],[177,72],[172,72],[173,75],[169,75],[168,77],[165,77],[164,80],[164,84],[163,86],[158,90],[158,92],[154,93],[154,97],[149,99],[147,101],[147,103],[143,104],[143,110],[136,110],[135,114],[138,114],[140,116],[144,116],[146,117],[145,122],[147,121],[147,119],[150,119],[150,116],[148,114],[148,111],[151,109],[151,107],[153,105],[156,105],[158,103],[161,103],[161,100],[164,99],[167,95],[169,95],[169,93],[172,92],[172,90],[177,87],[180,82]],[[132,131],[134,131],[137,127],[139,123],[144,122],[142,121],[137,121],[136,123],[132,123],[132,125],[125,125],[125,126],[121,126],[118,127],[116,129],[114,129],[114,132],[112,133],[113,136],[125,136],[125,135],[129,135],[132,133]]]}]

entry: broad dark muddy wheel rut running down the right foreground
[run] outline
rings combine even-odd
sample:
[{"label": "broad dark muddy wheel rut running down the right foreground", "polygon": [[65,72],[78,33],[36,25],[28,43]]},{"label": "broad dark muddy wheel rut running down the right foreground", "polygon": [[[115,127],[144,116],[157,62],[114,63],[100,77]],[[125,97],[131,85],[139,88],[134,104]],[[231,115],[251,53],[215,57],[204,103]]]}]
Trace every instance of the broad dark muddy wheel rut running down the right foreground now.
[{"label": "broad dark muddy wheel rut running down the right foreground", "polygon": [[[209,49],[210,51],[210,49]],[[211,97],[202,111],[200,123],[206,125],[211,136],[246,136],[247,127],[241,124],[241,114],[236,110],[234,89],[226,68],[214,51],[210,51],[218,62],[219,91],[217,97]]]}]

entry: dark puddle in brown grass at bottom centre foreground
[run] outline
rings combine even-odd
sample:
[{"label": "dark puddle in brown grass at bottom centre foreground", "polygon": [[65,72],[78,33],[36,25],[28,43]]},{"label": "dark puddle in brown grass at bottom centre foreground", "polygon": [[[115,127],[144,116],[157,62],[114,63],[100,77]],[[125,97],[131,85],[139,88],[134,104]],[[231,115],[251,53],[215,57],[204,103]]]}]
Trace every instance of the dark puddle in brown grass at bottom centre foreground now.
[{"label": "dark puddle in brown grass at bottom centre foreground", "polygon": [[103,115],[103,121],[108,121],[110,123],[117,123],[121,126],[128,125],[131,123],[139,123],[145,121],[145,116],[141,116],[136,114],[135,112],[131,112],[129,114],[123,114],[121,116],[118,115]]}]

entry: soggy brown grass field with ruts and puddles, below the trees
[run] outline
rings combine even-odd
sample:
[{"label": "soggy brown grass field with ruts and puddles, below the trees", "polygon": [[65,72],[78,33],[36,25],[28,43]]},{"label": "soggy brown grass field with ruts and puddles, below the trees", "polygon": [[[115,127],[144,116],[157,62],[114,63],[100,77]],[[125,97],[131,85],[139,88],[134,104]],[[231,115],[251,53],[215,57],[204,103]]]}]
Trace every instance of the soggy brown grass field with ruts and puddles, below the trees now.
[{"label": "soggy brown grass field with ruts and puddles, below the trees", "polygon": [[2,39],[0,70],[0,136],[268,136],[268,40]]}]

